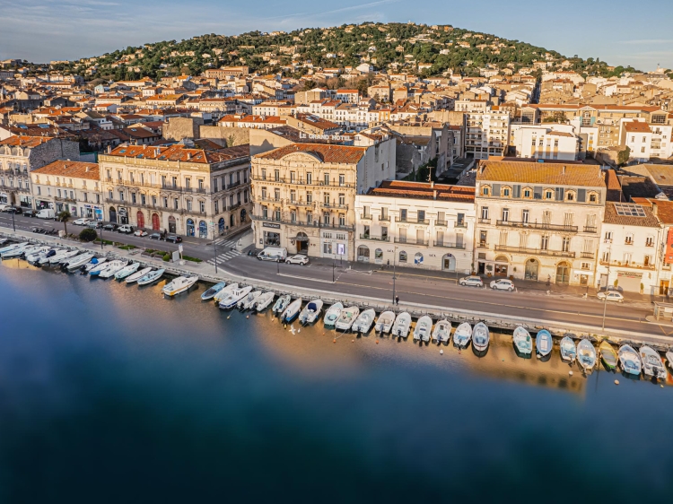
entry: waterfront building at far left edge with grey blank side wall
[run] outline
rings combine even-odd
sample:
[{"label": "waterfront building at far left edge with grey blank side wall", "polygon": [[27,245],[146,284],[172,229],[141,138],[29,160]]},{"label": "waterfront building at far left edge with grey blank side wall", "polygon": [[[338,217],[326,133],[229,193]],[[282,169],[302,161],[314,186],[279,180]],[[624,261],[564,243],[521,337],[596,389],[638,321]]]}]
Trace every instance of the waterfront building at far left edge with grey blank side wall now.
[{"label": "waterfront building at far left edge with grey blank side wall", "polygon": [[32,207],[33,169],[57,160],[79,161],[79,144],[48,136],[13,135],[0,141],[0,203]]}]

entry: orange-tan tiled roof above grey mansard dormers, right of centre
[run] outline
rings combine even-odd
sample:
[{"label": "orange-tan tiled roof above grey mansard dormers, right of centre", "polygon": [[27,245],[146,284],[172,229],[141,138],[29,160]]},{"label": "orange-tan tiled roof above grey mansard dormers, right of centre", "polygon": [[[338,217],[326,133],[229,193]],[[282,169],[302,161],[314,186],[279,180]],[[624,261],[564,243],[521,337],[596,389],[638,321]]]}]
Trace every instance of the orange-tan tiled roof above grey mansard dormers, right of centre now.
[{"label": "orange-tan tiled roof above grey mansard dormers, right of centre", "polygon": [[477,180],[549,184],[554,186],[605,187],[599,166],[531,163],[520,161],[483,161]]}]

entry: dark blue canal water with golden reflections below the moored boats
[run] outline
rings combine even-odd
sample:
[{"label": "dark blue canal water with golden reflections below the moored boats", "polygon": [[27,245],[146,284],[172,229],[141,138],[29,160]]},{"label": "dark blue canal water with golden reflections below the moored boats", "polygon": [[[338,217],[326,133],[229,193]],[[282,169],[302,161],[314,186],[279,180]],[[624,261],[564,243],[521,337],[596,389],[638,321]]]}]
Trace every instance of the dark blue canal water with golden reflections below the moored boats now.
[{"label": "dark blue canal water with golden reflections below the moored boats", "polygon": [[162,284],[0,265],[0,502],[672,495],[669,384],[570,377],[507,335],[333,343]]}]

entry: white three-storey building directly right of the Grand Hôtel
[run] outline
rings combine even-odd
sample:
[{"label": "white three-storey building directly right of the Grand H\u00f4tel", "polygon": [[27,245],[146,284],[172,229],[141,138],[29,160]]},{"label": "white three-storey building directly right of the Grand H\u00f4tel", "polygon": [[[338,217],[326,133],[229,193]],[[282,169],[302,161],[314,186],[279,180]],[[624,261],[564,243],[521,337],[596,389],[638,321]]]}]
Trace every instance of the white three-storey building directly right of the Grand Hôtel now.
[{"label": "white three-storey building directly right of the Grand H\u00f4tel", "polygon": [[355,196],[356,260],[472,271],[475,188],[384,181]]}]

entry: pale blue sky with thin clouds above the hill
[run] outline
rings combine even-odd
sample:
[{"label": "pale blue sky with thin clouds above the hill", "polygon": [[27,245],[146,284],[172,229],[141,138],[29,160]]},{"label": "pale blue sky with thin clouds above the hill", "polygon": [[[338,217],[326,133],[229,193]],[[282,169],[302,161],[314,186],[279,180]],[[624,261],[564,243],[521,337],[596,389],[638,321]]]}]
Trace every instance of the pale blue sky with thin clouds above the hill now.
[{"label": "pale blue sky with thin clouds above the hill", "polygon": [[0,59],[78,59],[205,33],[368,21],[451,24],[608,65],[673,68],[673,0],[0,0]]}]

